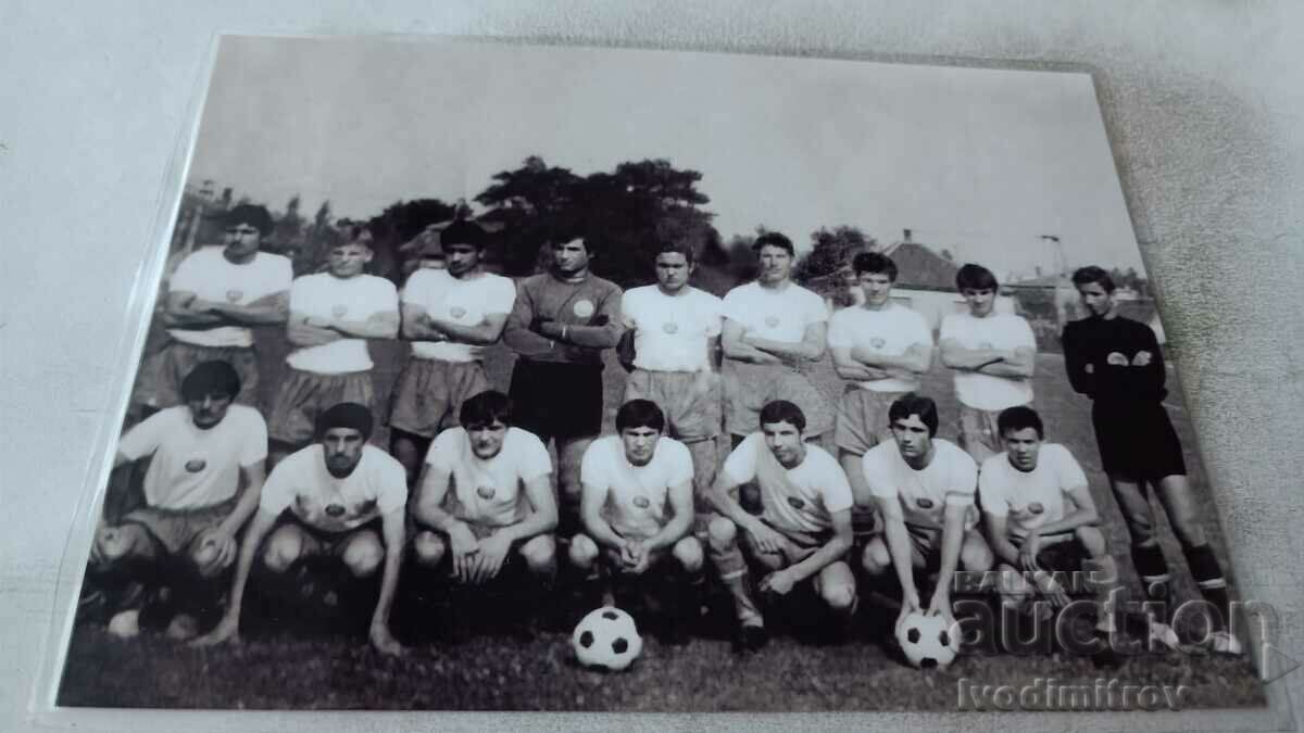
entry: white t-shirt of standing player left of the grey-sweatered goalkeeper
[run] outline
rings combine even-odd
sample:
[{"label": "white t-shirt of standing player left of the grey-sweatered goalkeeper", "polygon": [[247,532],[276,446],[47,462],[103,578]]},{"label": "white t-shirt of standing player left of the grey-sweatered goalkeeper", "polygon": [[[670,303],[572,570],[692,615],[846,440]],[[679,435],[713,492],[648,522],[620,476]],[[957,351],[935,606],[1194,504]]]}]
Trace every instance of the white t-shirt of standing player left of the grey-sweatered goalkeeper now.
[{"label": "white t-shirt of standing player left of the grey-sweatered goalkeeper", "polygon": [[[412,273],[402,292],[403,303],[420,305],[434,318],[462,326],[479,326],[490,313],[511,313],[516,286],[510,278],[481,273],[475,278],[454,278],[447,270],[421,269]],[[485,347],[456,342],[412,342],[412,356],[441,361],[480,361]]]}]

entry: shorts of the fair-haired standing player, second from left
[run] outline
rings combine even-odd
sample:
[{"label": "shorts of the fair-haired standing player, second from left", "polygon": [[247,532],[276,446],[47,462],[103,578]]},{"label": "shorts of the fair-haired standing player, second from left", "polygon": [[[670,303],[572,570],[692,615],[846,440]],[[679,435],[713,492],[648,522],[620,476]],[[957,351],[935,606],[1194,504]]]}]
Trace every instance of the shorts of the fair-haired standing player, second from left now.
[{"label": "shorts of the fair-haired standing player, second from left", "polygon": [[287,368],[267,416],[267,437],[291,446],[305,446],[313,440],[317,416],[342,402],[356,402],[376,410],[370,370],[317,374]]}]

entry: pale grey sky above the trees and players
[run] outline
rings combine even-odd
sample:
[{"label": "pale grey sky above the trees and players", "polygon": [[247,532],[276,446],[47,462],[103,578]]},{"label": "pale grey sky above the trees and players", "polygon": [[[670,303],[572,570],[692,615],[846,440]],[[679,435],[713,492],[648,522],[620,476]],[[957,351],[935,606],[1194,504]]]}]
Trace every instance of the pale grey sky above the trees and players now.
[{"label": "pale grey sky above the trees and players", "polygon": [[[702,172],[721,236],[855,226],[998,277],[1142,270],[1084,73],[562,48],[227,38],[188,180],[310,217],[468,201],[528,155]],[[1060,237],[1060,245],[1042,239]],[[1063,253],[1063,254],[1061,254]]]}]

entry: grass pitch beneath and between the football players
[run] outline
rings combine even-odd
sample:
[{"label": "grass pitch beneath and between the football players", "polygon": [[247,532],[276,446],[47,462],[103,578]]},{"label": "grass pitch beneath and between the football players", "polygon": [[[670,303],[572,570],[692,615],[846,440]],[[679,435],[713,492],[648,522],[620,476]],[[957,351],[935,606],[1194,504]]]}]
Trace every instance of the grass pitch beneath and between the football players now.
[{"label": "grass pitch beneath and between the football players", "polygon": [[[278,381],[284,348],[278,331],[259,334],[262,382],[269,391]],[[404,351],[400,344],[372,344],[377,394],[389,394]],[[490,377],[499,389],[506,389],[511,363],[512,356],[502,347],[488,359]],[[614,361],[605,372],[608,430],[613,429],[623,374]],[[841,380],[828,361],[816,381],[829,399],[841,394]],[[1170,412],[1187,447],[1191,481],[1226,567],[1223,535],[1193,453],[1194,434],[1176,396],[1176,383],[1171,381],[1170,387]],[[1034,390],[1034,407],[1046,419],[1047,440],[1065,443],[1082,463],[1124,582],[1136,593],[1140,586],[1128,558],[1127,531],[1101,472],[1090,404],[1069,389],[1058,355],[1038,356]],[[923,391],[938,399],[940,436],[953,440],[955,394],[949,374],[936,360]],[[265,403],[270,396],[263,395]],[[386,441],[383,432],[374,437],[378,445]],[[1166,522],[1162,535],[1178,597],[1198,597]],[[871,603],[862,606],[859,633],[842,646],[812,646],[780,635],[758,655],[737,656],[724,638],[725,630],[717,629],[681,648],[649,639],[642,659],[622,674],[576,668],[570,661],[566,633],[545,633],[526,644],[496,635],[455,646],[422,642],[403,659],[386,659],[361,635],[303,638],[280,633],[248,638],[239,647],[200,651],[156,635],[124,642],[102,629],[81,626],[73,633],[59,700],[65,706],[183,708],[948,711],[956,710],[962,678],[1017,687],[1047,677],[1059,683],[1093,685],[1106,676],[1086,659],[1060,653],[962,656],[944,672],[919,672],[893,659],[880,643],[880,630],[892,612]],[[1248,660],[1154,653],[1131,657],[1112,674],[1129,685],[1185,685],[1189,706],[1265,704]]]}]

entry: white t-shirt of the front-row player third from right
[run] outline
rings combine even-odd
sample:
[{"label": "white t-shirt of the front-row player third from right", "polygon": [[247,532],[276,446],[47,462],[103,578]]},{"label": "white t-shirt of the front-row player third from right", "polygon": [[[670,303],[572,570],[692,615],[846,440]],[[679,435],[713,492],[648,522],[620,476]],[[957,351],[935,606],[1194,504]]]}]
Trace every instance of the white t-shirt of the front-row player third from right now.
[{"label": "white t-shirt of the front-row player third from right", "polygon": [[764,434],[752,433],[729,454],[722,470],[735,484],[756,481],[762,519],[780,532],[827,532],[833,513],[854,503],[842,467],[815,445],[806,446],[805,460],[785,468],[765,446]]}]

